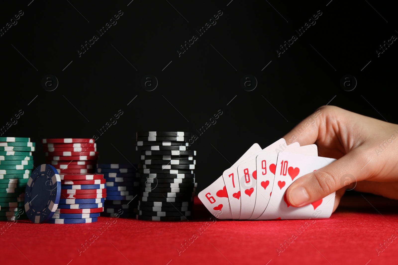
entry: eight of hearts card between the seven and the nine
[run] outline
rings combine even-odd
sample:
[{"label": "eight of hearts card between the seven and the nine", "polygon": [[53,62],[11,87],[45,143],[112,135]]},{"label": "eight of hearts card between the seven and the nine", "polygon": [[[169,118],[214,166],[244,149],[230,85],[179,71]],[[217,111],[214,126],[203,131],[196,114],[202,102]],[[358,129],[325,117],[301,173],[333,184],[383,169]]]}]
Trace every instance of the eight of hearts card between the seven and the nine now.
[{"label": "eight of hearts card between the seven and the nine", "polygon": [[[298,143],[294,143],[291,146],[299,146]],[[285,139],[281,138],[275,143],[265,147],[263,150],[259,151],[255,155],[252,155],[241,164],[238,165],[238,168],[230,168],[234,171],[234,173],[238,176],[238,186],[239,192],[237,193],[240,196],[240,220],[246,220],[248,217],[252,216],[254,205],[256,203],[256,157],[260,153],[267,153],[270,151],[275,151],[275,153],[280,150],[286,150],[288,147],[286,145]],[[231,172],[232,172],[231,170]],[[235,193],[234,193],[235,194]],[[232,214],[233,216],[233,214]]]}]

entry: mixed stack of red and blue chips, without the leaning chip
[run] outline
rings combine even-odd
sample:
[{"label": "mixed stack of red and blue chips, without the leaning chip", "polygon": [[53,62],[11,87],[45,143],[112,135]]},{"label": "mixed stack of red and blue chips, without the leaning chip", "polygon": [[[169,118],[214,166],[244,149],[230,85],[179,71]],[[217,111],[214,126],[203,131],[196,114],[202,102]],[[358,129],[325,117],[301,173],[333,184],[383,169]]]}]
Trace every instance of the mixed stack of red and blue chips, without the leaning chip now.
[{"label": "mixed stack of red and blue chips, without the leaning chip", "polygon": [[102,174],[61,173],[61,195],[53,224],[96,222],[103,212],[106,184]]}]

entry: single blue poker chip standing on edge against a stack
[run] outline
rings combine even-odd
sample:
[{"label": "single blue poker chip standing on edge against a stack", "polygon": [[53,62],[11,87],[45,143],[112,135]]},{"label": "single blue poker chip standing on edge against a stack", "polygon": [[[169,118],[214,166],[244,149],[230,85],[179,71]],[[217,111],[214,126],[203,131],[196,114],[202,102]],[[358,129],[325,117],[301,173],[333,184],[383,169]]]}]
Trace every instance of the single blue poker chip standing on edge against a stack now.
[{"label": "single blue poker chip standing on edge against a stack", "polygon": [[25,212],[30,221],[47,222],[57,210],[61,179],[55,167],[42,164],[33,170],[25,188]]}]

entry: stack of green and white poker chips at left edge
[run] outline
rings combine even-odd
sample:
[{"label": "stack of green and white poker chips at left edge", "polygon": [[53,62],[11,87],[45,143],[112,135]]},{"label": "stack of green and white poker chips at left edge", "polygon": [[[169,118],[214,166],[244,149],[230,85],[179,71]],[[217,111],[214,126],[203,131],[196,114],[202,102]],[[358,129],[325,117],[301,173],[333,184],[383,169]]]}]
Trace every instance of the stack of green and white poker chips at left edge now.
[{"label": "stack of green and white poker chips at left edge", "polygon": [[30,138],[0,137],[0,221],[26,219],[23,198],[33,151]]}]

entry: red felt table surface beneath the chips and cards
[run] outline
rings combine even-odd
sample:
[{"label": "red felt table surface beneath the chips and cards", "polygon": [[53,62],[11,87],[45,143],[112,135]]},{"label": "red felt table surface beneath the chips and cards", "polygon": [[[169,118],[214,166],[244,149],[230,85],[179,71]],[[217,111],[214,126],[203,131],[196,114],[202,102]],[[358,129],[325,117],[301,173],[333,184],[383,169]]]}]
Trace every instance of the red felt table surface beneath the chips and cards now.
[{"label": "red felt table surface beneath the chips and cards", "polygon": [[397,264],[398,238],[392,237],[398,236],[397,201],[364,196],[343,197],[330,219],[312,224],[215,221],[197,198],[195,218],[185,222],[109,217],[91,224],[0,222],[0,259],[34,265]]}]

